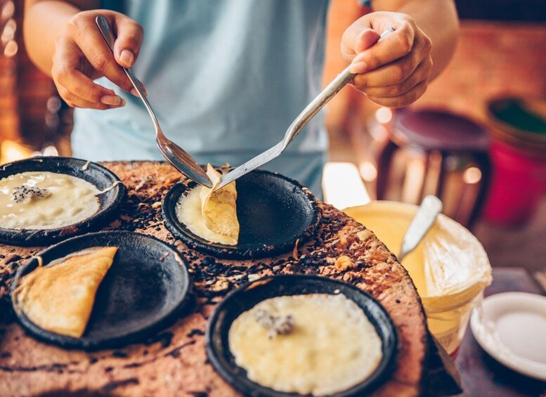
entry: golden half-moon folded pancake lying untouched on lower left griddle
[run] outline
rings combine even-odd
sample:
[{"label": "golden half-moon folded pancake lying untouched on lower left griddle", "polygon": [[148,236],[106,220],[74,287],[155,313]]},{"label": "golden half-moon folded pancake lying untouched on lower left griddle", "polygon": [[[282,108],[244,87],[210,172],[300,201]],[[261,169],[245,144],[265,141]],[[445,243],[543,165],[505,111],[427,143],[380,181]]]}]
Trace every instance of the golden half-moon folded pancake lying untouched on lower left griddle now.
[{"label": "golden half-moon folded pancake lying untouched on lower left griddle", "polygon": [[82,337],[117,247],[96,247],[38,266],[20,280],[15,307],[44,330]]}]

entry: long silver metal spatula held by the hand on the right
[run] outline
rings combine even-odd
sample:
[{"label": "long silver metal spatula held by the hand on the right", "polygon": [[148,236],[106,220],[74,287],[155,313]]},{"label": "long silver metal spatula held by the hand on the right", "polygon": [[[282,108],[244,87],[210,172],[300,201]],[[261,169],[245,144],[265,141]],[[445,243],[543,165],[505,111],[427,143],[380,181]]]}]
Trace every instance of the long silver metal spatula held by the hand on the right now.
[{"label": "long silver metal spatula held by the hand on the right", "polygon": [[[379,36],[378,42],[384,39],[388,34],[394,32],[392,27],[386,29],[381,36]],[[239,167],[228,172],[228,174],[222,176],[219,186],[216,186],[215,190],[223,188],[228,183],[235,181],[235,179],[240,178],[241,176],[247,174],[247,172],[252,171],[262,165],[271,162],[275,157],[278,157],[285,149],[290,145],[290,143],[296,138],[299,131],[304,128],[304,126],[311,120],[320,109],[326,105],[330,99],[349,83],[356,74],[351,73],[351,66],[346,67],[346,69],[337,75],[335,79],[332,80],[330,84],[327,85],[325,89],[318,96],[309,103],[306,108],[296,117],[294,122],[288,127],[285,138],[277,143],[273,148],[266,150],[265,152],[257,155],[252,160],[245,162],[245,164],[240,165]]]}]

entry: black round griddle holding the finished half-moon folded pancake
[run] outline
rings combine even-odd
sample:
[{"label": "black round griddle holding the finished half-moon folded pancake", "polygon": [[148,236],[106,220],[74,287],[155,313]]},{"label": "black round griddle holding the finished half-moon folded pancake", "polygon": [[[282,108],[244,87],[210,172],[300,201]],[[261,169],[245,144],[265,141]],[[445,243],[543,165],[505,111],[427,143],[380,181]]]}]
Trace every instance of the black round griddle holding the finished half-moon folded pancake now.
[{"label": "black round griddle holding the finished half-moon folded pancake", "polygon": [[148,235],[125,231],[89,233],[53,245],[38,255],[44,266],[92,247],[119,247],[100,283],[89,323],[81,338],[43,330],[17,307],[18,280],[38,266],[35,258],[18,269],[11,297],[18,320],[41,341],[63,348],[105,349],[141,340],[169,325],[190,301],[190,275],[176,250]]}]

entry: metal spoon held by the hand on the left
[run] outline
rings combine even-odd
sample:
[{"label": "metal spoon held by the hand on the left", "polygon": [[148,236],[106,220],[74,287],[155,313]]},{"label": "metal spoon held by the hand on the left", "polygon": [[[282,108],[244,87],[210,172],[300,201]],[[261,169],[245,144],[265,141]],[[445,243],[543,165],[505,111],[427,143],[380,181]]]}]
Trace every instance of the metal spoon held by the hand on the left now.
[{"label": "metal spoon held by the hand on the left", "polygon": [[[106,44],[108,44],[108,47],[110,47],[110,50],[113,53],[115,37],[108,20],[106,20],[106,18],[104,18],[102,15],[98,15],[95,22],[98,26],[100,34],[103,35]],[[124,67],[123,70],[135,87],[136,92],[138,92],[138,96],[140,96],[144,106],[148,110],[148,113],[150,113],[150,117],[152,117],[152,122],[154,123],[155,127],[155,143],[157,143],[157,147],[160,148],[163,157],[165,157],[165,159],[167,159],[167,161],[171,163],[174,168],[178,169],[178,171],[180,171],[182,174],[188,176],[188,178],[199,183],[200,185],[212,188],[212,181],[199,166],[199,164],[197,164],[197,162],[193,159],[193,157],[188,155],[188,153],[176,145],[176,143],[169,141],[169,139],[164,136],[160,123],[157,121],[157,117],[155,117],[152,106],[148,102],[148,98],[145,96],[141,83],[138,82],[138,79],[136,79],[134,76],[131,68]]]}]

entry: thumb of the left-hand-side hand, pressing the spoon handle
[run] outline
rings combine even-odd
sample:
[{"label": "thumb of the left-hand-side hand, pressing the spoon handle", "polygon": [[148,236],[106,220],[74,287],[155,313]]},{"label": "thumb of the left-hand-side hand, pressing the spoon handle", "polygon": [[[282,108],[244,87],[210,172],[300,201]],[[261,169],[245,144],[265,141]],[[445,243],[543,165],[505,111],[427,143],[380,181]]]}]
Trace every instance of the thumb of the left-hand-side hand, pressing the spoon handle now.
[{"label": "thumb of the left-hand-side hand, pressing the spoon handle", "polygon": [[114,43],[114,58],[122,67],[132,67],[144,38],[141,25],[122,14],[115,17],[117,38]]}]

